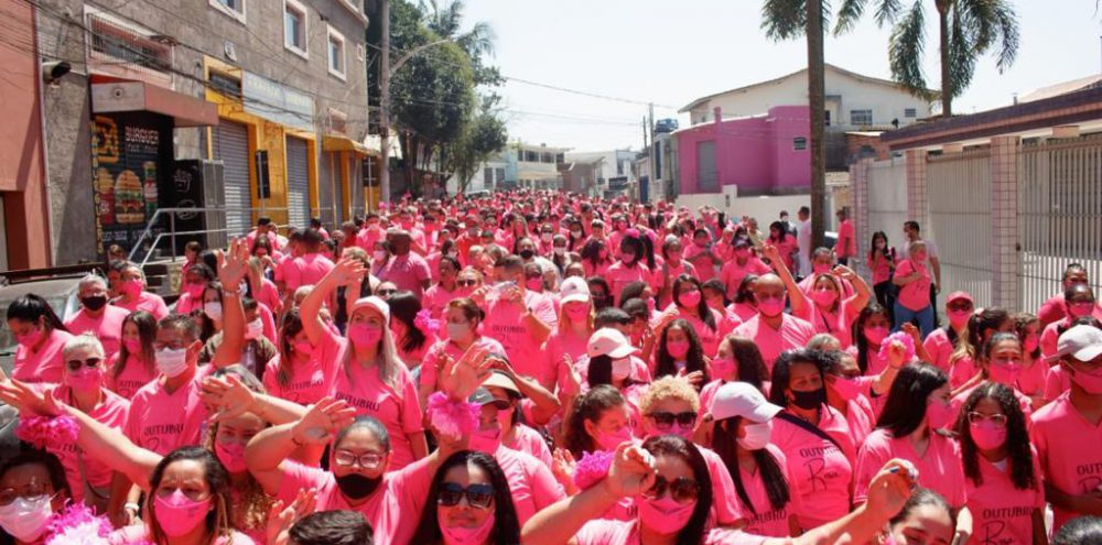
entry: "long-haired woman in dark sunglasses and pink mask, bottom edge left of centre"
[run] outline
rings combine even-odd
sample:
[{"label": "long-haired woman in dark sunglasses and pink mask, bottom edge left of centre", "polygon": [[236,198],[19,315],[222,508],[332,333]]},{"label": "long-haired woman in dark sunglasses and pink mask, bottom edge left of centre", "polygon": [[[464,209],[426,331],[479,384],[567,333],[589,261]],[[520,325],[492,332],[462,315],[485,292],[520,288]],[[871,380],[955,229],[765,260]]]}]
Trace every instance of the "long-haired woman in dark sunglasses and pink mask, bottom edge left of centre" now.
[{"label": "long-haired woman in dark sunglasses and pink mask, bottom edge left of centre", "polygon": [[517,509],[497,460],[471,450],[455,453],[444,460],[429,486],[421,522],[410,543],[520,543]]}]

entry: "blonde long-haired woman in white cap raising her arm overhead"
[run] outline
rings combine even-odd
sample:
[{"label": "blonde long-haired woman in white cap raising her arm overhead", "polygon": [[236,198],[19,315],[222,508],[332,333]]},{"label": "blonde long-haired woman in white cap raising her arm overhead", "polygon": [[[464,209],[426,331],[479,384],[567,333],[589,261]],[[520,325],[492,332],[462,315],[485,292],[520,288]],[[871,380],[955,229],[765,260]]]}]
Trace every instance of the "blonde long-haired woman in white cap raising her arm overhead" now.
[{"label": "blonde long-haired woman in white cap raising her arm overhead", "polygon": [[[396,469],[424,458],[429,447],[421,403],[409,370],[398,358],[390,334],[390,309],[379,297],[358,299],[348,309],[347,338],[326,327],[318,316],[337,286],[359,283],[367,271],[355,259],[344,259],[310,292],[300,308],[303,330],[331,378],[331,395],[347,401],[358,414],[378,418],[390,433]],[[311,319],[313,317],[313,319]]]}]

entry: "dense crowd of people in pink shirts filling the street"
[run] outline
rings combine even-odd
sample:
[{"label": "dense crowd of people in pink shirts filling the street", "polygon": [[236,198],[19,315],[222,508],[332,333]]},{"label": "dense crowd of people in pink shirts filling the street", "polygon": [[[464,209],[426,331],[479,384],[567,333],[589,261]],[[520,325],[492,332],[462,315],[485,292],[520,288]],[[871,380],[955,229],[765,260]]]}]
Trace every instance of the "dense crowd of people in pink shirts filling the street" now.
[{"label": "dense crowd of people in pink shirts filling the street", "polygon": [[798,215],[406,197],[188,243],[172,305],[125,260],[64,321],[22,296],[2,537],[1102,543],[1087,270],[981,308],[918,224],[812,248]]}]

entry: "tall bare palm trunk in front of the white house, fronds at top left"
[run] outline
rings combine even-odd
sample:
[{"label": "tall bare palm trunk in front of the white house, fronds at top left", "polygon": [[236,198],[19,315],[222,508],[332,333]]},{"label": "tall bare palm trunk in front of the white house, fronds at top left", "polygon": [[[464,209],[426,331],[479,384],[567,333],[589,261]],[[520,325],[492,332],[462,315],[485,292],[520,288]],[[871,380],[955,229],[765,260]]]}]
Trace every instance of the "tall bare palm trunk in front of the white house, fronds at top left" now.
[{"label": "tall bare palm trunk in front of the white house, fronds at top left", "polygon": [[[811,14],[818,14],[812,17]],[[823,246],[827,230],[827,101],[823,0],[765,0],[761,28],[775,41],[808,39],[808,106],[811,115],[811,248]],[[804,255],[810,259],[810,255]]]}]

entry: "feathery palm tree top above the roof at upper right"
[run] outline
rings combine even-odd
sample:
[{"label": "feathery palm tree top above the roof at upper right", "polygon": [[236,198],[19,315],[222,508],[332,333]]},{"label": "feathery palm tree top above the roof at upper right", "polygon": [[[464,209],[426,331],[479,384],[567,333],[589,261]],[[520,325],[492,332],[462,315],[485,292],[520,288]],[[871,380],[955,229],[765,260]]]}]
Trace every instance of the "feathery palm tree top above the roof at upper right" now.
[{"label": "feathery palm tree top above the roof at upper right", "polygon": [[[894,24],[888,42],[892,77],[916,96],[930,97],[922,75],[926,50],[926,1],[914,0],[904,11],[903,0],[874,0],[876,24]],[[849,31],[864,13],[868,0],[844,0],[834,34]],[[1002,72],[1018,53],[1018,22],[1008,0],[933,0],[938,11],[941,56],[941,113],[950,117],[953,98],[969,84],[981,55],[995,53]]]}]

